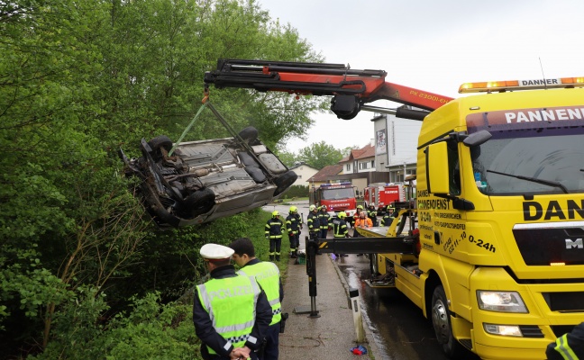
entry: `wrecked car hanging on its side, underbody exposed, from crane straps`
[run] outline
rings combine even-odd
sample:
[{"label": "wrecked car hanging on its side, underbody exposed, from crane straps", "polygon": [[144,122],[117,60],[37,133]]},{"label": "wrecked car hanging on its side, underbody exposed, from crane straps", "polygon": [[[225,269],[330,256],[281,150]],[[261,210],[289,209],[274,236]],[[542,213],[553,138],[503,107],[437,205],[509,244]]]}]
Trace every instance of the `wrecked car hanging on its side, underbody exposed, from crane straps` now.
[{"label": "wrecked car hanging on its side, underbody exposed, from crane straps", "polygon": [[120,149],[126,176],[160,228],[202,224],[263,206],[297,180],[248,127],[233,138],[181,142],[141,139],[141,157]]}]

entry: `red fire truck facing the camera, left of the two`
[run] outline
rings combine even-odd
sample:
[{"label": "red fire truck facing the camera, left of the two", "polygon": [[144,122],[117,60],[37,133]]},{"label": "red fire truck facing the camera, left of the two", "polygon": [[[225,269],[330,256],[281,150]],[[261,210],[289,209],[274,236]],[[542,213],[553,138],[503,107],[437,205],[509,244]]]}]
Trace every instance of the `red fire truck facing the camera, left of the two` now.
[{"label": "red fire truck facing the camera, left of the two", "polygon": [[336,216],[341,211],[347,214],[347,218],[352,218],[357,210],[357,199],[355,199],[355,188],[350,182],[321,184],[319,187],[310,189],[310,204],[322,206],[326,205],[326,210],[331,216]]}]

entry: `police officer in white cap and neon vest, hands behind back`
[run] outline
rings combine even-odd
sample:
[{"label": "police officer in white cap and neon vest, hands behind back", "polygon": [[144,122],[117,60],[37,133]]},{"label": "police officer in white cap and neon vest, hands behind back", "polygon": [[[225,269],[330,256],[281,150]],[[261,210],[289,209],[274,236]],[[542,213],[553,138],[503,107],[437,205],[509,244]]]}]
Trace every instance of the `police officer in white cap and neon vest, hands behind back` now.
[{"label": "police officer in white cap and neon vest, hands behind back", "polygon": [[196,286],[193,303],[201,356],[205,360],[258,359],[256,351],[272,320],[266,293],[254,277],[235,274],[233,249],[205,244],[200,254],[211,276]]}]

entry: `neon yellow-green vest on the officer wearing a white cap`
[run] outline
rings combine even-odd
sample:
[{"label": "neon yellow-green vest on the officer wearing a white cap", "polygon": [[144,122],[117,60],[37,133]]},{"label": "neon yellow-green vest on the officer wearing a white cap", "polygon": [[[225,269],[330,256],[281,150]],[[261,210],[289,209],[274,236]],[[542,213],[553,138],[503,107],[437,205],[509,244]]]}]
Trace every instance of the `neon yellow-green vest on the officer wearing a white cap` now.
[{"label": "neon yellow-green vest on the officer wearing a white cap", "polygon": [[[226,347],[244,347],[255,322],[260,286],[247,276],[211,279],[197,285],[198,297],[208,312],[213,328],[227,340]],[[207,347],[209,354],[217,354]]]}]

